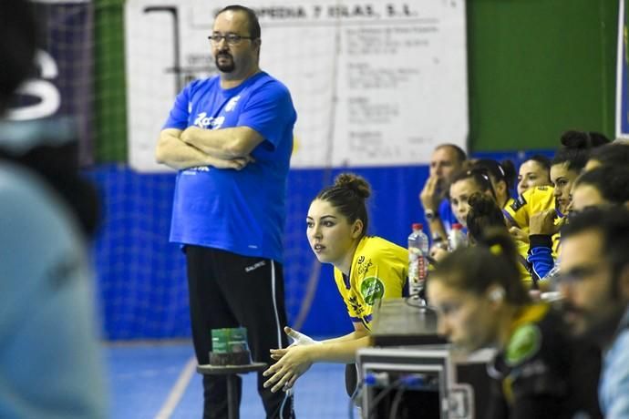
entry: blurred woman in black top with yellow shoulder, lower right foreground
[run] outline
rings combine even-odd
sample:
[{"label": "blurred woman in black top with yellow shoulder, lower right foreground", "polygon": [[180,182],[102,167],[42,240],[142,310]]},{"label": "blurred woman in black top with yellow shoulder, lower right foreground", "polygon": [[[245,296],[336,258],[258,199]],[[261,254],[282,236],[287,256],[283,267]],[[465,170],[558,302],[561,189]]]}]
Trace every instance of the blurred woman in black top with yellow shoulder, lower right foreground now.
[{"label": "blurred woman in black top with yellow shoulder, lower right foreground", "polygon": [[464,351],[497,351],[488,365],[490,410],[481,417],[600,417],[599,353],[573,342],[551,306],[531,301],[516,254],[506,230],[488,230],[476,246],[439,261],[428,278],[438,333]]}]

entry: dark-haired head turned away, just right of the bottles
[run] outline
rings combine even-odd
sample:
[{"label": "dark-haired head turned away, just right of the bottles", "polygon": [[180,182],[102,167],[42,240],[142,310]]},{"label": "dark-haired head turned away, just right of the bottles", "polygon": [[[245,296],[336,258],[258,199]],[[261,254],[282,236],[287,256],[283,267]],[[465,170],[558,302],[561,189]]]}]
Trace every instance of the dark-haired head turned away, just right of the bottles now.
[{"label": "dark-haired head turned away, just right of the bottles", "polygon": [[467,220],[469,239],[473,244],[481,240],[485,231],[494,229],[507,230],[507,222],[496,199],[490,195],[474,192],[468,199]]}]

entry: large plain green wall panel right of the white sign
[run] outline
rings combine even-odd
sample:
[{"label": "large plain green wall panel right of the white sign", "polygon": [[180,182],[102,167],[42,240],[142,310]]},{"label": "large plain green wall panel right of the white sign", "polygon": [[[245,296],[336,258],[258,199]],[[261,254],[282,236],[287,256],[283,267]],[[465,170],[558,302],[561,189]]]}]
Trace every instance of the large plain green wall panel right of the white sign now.
[{"label": "large plain green wall panel right of the white sign", "polygon": [[468,2],[469,148],[556,148],[614,135],[615,0]]}]

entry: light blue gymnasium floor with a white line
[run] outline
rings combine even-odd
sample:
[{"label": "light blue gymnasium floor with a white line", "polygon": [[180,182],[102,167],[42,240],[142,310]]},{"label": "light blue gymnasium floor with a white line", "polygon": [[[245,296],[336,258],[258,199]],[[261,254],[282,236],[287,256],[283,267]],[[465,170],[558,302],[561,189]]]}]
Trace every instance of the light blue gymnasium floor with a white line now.
[{"label": "light blue gymnasium floor with a white line", "polygon": [[[191,342],[112,344],[105,356],[112,418],[201,418]],[[342,364],[314,364],[295,386],[297,418],[349,417],[344,372]],[[253,373],[242,376],[242,387],[241,418],[263,419]]]}]

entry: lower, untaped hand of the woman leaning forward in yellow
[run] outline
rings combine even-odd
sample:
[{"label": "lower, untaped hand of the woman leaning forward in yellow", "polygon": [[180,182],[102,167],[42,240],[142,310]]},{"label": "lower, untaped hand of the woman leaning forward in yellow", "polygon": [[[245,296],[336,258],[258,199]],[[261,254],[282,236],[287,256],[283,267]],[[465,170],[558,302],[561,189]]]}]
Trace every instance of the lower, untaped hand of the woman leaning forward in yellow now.
[{"label": "lower, untaped hand of the woman leaning forward in yellow", "polygon": [[277,360],[263,376],[270,377],[263,384],[264,388],[271,387],[271,392],[278,390],[287,391],[291,389],[303,373],[308,371],[313,364],[310,351],[314,348],[314,343],[293,344],[285,349],[272,349],[271,358]]}]

